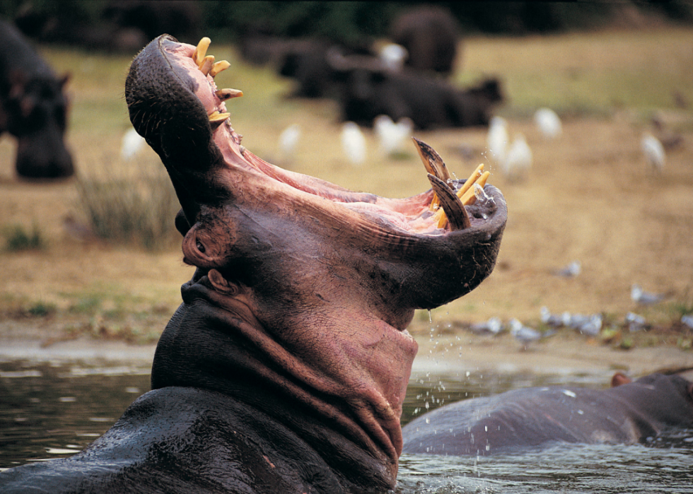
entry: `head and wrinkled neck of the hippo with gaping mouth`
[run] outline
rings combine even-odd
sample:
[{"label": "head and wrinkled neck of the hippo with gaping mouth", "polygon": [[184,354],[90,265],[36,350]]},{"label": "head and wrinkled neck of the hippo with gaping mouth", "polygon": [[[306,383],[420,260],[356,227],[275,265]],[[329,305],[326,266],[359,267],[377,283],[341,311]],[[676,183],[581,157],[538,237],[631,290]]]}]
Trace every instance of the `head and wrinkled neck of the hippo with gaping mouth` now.
[{"label": "head and wrinkled neck of the hippo with gaping mouth", "polygon": [[228,63],[205,52],[163,35],[126,82],[132,124],[180,199],[185,262],[197,266],[159,343],[153,387],[243,396],[342,451],[334,461],[361,486],[390,488],[417,351],[405,328],[414,310],[455,300],[491,273],[503,196],[477,187],[484,201],[465,208],[460,182],[446,184],[423,143],[447,221],[429,208],[433,190],[385,199],[270,165],[240,145],[225,103],[240,91],[216,88]]}]

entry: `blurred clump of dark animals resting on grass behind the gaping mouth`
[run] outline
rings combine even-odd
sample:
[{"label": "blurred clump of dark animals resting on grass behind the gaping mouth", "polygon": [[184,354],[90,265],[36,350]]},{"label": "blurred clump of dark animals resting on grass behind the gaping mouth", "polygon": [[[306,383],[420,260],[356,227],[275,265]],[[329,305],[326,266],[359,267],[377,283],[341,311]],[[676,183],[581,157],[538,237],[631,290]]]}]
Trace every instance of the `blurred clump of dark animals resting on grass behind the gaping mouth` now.
[{"label": "blurred clump of dark animals resting on grass behind the gaping mouth", "polygon": [[444,8],[413,8],[397,18],[390,38],[403,48],[392,63],[371,46],[344,46],[325,40],[285,40],[247,33],[240,52],[255,64],[272,64],[293,78],[293,95],[333,98],[344,121],[370,127],[378,115],[409,118],[417,129],[489,124],[503,101],[495,78],[458,88],[445,77],[455,71],[460,33],[457,20]]}]

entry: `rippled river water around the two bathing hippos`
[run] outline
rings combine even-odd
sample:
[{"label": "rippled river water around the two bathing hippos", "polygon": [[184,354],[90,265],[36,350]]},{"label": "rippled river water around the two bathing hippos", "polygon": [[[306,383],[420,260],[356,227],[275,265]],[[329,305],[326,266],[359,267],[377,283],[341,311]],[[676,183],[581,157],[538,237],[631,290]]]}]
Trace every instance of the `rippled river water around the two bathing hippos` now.
[{"label": "rippled river water around the two bathing hippos", "polygon": [[[414,370],[404,423],[443,404],[595,377]],[[149,389],[149,365],[0,361],[0,468],[78,452]],[[559,445],[495,457],[404,454],[397,494],[693,493],[693,431],[651,445]]]}]

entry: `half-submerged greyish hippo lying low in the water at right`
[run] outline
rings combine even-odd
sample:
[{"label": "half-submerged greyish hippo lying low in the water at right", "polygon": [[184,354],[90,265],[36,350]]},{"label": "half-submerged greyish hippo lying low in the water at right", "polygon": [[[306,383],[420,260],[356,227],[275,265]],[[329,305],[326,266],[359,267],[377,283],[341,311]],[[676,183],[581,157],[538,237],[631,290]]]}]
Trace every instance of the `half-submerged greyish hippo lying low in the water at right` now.
[{"label": "half-submerged greyish hippo lying low in the water at right", "polygon": [[621,373],[609,389],[534,387],[436,408],[402,429],[406,453],[487,456],[557,442],[647,442],[693,427],[693,383]]}]

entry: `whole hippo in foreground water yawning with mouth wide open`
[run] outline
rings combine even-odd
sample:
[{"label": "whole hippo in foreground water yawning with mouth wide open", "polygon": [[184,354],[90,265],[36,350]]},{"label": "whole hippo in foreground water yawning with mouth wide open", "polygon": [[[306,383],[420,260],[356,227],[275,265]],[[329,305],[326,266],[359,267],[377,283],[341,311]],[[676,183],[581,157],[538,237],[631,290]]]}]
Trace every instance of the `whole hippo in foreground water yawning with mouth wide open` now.
[{"label": "whole hippo in foreground water yawning with mouth wide open", "polygon": [[[371,493],[395,487],[417,309],[494,268],[507,206],[417,143],[432,189],[351,192],[241,145],[219,89],[228,62],[168,35],[132,61],[133,127],[161,157],[181,211],[182,304],[140,396],[73,457],[0,474],[6,493]],[[445,180],[443,180],[445,179]],[[476,187],[475,187],[476,190]],[[453,192],[454,191],[454,192]],[[431,211],[438,199],[447,220]]]}]

